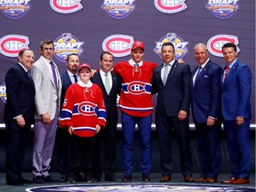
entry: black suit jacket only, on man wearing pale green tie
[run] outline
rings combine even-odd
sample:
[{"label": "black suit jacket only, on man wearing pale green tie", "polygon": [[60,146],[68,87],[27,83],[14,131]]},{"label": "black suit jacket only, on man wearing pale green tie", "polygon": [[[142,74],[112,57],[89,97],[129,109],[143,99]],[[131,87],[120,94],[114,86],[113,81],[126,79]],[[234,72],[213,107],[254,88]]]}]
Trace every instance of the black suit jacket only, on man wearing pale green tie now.
[{"label": "black suit jacket only, on man wearing pale green tie", "polygon": [[[105,102],[106,106],[106,112],[108,118],[111,118],[112,120],[115,120],[115,124],[117,124],[117,116],[118,116],[118,111],[117,111],[117,106],[116,106],[116,97],[117,94],[120,93],[121,91],[121,86],[122,86],[122,80],[120,76],[117,76],[115,73],[111,72],[112,76],[112,87],[111,90],[108,93],[105,90],[105,86],[101,80],[100,77],[100,71],[96,72],[93,77],[91,78],[92,83],[98,84],[100,86],[100,89],[103,93],[103,99]],[[107,120],[108,124],[108,120]]]}]

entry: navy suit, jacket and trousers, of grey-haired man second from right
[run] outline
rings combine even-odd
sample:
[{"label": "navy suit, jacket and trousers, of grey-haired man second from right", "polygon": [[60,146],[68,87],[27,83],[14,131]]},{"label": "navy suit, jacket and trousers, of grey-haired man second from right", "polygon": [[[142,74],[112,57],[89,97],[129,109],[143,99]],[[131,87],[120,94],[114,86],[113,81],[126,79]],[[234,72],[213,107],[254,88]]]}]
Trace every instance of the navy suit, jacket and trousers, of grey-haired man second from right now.
[{"label": "navy suit, jacket and trousers, of grey-haired man second from right", "polygon": [[[198,159],[202,171],[200,177],[217,180],[221,161],[220,76],[222,69],[209,60],[201,73],[196,76],[193,85],[196,70],[197,68],[192,71],[190,88],[192,116],[196,125]],[[215,119],[212,126],[206,124],[209,116]]]}]

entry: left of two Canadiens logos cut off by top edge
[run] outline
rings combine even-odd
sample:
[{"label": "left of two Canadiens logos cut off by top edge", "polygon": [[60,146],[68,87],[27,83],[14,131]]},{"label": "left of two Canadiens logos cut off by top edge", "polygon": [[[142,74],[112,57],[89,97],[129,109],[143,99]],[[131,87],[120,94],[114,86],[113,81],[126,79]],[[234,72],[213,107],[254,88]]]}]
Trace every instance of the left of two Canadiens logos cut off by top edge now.
[{"label": "left of two Canadiens logos cut off by top edge", "polygon": [[83,8],[81,0],[50,0],[50,5],[55,12],[72,13]]}]

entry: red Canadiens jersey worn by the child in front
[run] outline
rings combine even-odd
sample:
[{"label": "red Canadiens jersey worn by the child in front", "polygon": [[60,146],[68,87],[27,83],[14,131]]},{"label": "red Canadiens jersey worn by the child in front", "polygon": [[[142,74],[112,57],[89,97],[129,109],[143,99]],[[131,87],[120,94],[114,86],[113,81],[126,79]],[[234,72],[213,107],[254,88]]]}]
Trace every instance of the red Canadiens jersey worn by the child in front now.
[{"label": "red Canadiens jersey worn by the child in front", "polygon": [[92,87],[71,84],[65,95],[60,124],[73,126],[72,133],[79,137],[94,136],[96,124],[105,127],[106,110],[100,87],[97,84]]}]

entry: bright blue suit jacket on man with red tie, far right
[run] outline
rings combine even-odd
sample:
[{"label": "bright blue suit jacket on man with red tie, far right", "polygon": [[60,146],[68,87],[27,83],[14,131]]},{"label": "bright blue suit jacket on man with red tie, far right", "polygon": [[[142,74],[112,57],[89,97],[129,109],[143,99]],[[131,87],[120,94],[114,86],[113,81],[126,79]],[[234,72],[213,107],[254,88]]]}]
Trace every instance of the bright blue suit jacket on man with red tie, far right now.
[{"label": "bright blue suit jacket on man with red tie, far right", "polygon": [[[223,71],[225,68],[223,69]],[[251,118],[250,98],[252,93],[252,72],[248,66],[236,60],[229,69],[228,76],[222,82],[221,108],[226,121],[236,120],[236,116]]]}]

